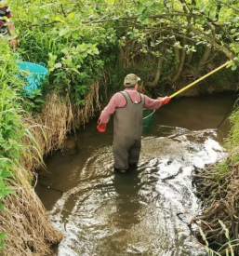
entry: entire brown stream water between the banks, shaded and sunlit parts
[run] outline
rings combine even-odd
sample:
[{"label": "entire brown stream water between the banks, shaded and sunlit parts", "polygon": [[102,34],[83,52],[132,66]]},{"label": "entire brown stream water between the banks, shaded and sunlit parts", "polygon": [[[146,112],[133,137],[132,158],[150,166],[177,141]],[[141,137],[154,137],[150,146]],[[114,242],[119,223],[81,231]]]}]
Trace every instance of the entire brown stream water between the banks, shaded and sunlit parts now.
[{"label": "entire brown stream water between the banks, shaded and sunlit parts", "polygon": [[189,223],[202,212],[194,195],[197,168],[220,160],[229,123],[215,129],[232,95],[173,100],[154,114],[142,138],[139,167],[113,172],[113,123],[97,118],[77,132],[77,148],[46,160],[36,192],[65,235],[59,256],[206,255]]}]

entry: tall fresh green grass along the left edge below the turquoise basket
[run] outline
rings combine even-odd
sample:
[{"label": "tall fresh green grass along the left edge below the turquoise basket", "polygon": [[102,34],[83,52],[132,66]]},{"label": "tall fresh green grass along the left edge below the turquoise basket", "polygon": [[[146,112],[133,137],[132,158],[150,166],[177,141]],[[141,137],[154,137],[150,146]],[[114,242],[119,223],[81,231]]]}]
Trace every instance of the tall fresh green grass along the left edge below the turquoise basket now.
[{"label": "tall fresh green grass along the left edge below the turquoise basket", "polygon": [[[27,171],[21,165],[25,146],[21,140],[28,136],[22,122],[24,113],[21,102],[24,86],[16,67],[16,55],[6,42],[0,42],[0,210],[4,210],[4,198],[13,193],[11,185],[19,182],[16,169],[21,169],[22,179],[28,182]],[[21,183],[24,181],[20,181]],[[6,233],[0,234],[0,247]]]}]

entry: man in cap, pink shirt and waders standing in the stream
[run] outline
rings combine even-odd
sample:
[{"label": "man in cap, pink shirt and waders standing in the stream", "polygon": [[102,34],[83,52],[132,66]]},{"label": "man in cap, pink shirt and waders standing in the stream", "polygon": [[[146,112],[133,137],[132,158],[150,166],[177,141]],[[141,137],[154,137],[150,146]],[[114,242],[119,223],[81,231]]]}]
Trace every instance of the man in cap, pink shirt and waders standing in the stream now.
[{"label": "man in cap, pink shirt and waders standing in the stream", "polygon": [[98,120],[98,129],[104,132],[113,115],[113,158],[114,170],[126,172],[137,167],[141,149],[143,109],[156,110],[170,101],[170,98],[153,100],[138,92],[140,78],[127,74],[124,91],[113,95]]}]

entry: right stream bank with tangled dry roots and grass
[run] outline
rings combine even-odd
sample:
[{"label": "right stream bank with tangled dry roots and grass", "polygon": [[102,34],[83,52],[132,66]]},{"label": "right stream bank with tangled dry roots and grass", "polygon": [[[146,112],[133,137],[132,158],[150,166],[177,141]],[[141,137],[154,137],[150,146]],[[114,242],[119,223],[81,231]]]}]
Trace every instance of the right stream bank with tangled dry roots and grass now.
[{"label": "right stream bank with tangled dry roots and grass", "polygon": [[[198,196],[205,207],[192,222],[201,222],[204,240],[216,245],[219,254],[239,252],[239,108],[229,117],[232,128],[225,140],[228,156],[217,165],[200,170],[194,177]],[[230,254],[230,251],[234,251]],[[214,254],[213,254],[214,255]]]}]

